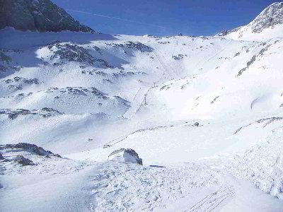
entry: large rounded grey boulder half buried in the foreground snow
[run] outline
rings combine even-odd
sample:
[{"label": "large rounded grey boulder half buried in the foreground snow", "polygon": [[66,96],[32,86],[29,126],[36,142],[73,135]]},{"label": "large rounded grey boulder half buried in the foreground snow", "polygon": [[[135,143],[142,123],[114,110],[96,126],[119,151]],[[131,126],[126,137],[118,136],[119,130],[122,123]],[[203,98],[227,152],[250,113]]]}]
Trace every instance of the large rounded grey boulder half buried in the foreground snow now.
[{"label": "large rounded grey boulder half buried in the foreground snow", "polygon": [[121,148],[113,151],[109,156],[109,160],[117,160],[124,163],[137,163],[142,165],[142,160],[132,148]]}]

